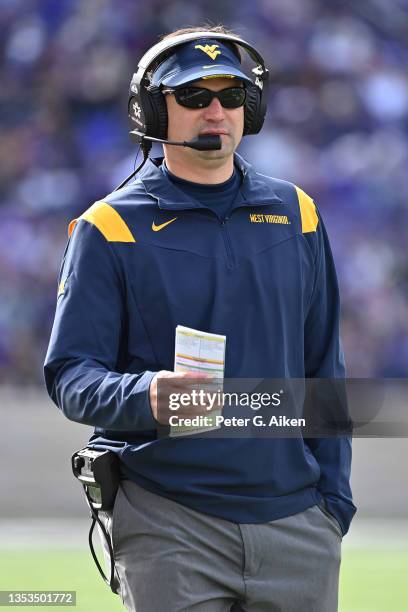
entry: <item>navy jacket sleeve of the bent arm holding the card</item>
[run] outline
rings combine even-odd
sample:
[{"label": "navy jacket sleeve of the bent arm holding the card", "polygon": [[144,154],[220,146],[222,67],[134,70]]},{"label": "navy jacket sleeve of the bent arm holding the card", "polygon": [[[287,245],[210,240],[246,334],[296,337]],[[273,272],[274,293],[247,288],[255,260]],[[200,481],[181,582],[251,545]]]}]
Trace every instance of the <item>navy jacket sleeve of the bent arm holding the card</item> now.
[{"label": "navy jacket sleeve of the bent arm holding the card", "polygon": [[154,372],[118,369],[126,326],[124,282],[112,244],[80,219],[65,250],[51,339],[47,391],[66,417],[108,430],[155,429]]}]

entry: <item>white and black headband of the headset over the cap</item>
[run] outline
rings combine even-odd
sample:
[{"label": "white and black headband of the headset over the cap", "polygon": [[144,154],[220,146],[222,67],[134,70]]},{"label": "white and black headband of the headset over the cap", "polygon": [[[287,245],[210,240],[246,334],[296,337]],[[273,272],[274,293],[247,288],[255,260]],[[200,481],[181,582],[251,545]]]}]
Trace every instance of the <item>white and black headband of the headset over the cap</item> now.
[{"label": "white and black headband of the headset over the cap", "polygon": [[176,47],[178,45],[182,45],[190,40],[197,40],[198,38],[213,38],[215,40],[226,40],[227,42],[236,43],[237,45],[246,49],[252,60],[258,64],[255,68],[252,69],[252,72],[255,74],[255,85],[257,85],[260,89],[262,89],[263,83],[265,80],[268,70],[265,67],[265,62],[262,56],[258,53],[258,51],[249,43],[247,43],[242,38],[238,36],[233,36],[231,34],[223,34],[216,32],[189,32],[187,34],[178,34],[177,36],[173,36],[171,38],[166,38],[156,43],[153,47],[151,47],[141,58],[138,67],[137,67],[137,76],[139,83],[142,81],[142,78],[145,76],[146,71],[151,66],[151,64],[156,60],[162,53],[168,51],[172,47]]}]

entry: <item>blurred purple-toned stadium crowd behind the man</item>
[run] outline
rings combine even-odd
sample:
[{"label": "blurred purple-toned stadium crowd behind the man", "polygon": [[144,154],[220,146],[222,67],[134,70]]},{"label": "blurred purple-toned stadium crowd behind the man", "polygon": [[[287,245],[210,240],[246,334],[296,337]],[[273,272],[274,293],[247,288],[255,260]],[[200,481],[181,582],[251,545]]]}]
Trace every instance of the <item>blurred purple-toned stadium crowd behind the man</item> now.
[{"label": "blurred purple-toned stadium crowd behind the man", "polygon": [[270,69],[240,153],[319,206],[348,375],[408,375],[407,0],[1,0],[0,382],[41,383],[68,222],[133,169],[138,59],[208,20]]}]

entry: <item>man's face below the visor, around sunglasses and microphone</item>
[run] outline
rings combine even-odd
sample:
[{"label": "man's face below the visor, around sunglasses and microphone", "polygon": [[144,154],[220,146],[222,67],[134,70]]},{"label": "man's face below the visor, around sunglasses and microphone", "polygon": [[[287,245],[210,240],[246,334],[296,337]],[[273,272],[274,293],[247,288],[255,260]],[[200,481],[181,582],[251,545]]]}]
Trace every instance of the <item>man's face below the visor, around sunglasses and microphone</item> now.
[{"label": "man's face below the visor, around sunglasses and microphone", "polygon": [[[214,78],[189,83],[189,87],[204,87],[220,91],[227,87],[242,87],[237,79]],[[207,160],[220,160],[230,157],[238,147],[244,129],[244,106],[224,108],[217,98],[211,100],[207,108],[190,109],[180,106],[174,95],[166,95],[168,112],[169,140],[192,140],[200,134],[219,134],[222,148],[219,151],[193,151],[183,149],[187,156]],[[175,147],[167,147],[169,149]]]}]

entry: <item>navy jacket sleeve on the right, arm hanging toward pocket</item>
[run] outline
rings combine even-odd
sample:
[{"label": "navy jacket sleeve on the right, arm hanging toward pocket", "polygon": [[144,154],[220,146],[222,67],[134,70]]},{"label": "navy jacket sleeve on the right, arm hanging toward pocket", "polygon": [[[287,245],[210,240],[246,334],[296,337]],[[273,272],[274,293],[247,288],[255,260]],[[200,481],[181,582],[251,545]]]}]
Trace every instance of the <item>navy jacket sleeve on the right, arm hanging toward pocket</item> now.
[{"label": "navy jacket sleeve on the right, arm hanging toward pocket", "polygon": [[[327,232],[316,212],[315,279],[304,326],[305,376],[339,379],[345,377],[339,288]],[[305,442],[320,466],[318,492],[345,534],[356,512],[350,488],[351,437],[333,433],[324,438],[306,438]]]}]

